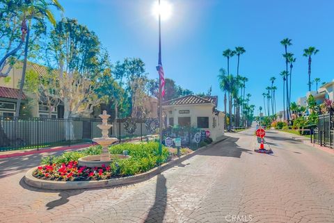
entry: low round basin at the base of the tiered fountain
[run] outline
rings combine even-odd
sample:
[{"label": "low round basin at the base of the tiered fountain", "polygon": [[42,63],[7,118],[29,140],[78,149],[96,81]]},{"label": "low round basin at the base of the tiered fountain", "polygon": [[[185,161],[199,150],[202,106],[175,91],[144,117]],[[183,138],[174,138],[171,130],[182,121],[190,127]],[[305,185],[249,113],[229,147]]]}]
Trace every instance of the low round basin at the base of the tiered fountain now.
[{"label": "low round basin at the base of the tiered fountain", "polygon": [[113,163],[114,160],[119,160],[119,159],[125,159],[125,158],[130,158],[131,156],[128,155],[121,155],[121,154],[115,154],[115,155],[110,155],[110,160],[101,160],[100,155],[95,155],[95,156],[84,156],[79,158],[78,160],[78,165],[81,167],[102,167],[102,165],[108,167]]}]

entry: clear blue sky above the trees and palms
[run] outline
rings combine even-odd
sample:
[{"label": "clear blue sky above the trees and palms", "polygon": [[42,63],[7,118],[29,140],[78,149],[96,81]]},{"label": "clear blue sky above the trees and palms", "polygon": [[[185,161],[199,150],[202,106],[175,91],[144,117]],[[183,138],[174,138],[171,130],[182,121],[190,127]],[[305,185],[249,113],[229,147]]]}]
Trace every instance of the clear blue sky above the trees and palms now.
[{"label": "clear blue sky above the trees and palms", "polygon": [[[157,18],[152,6],[157,0],[59,0],[64,17],[76,18],[94,31],[112,62],[141,58],[149,77],[158,77]],[[321,83],[334,79],[333,0],[168,0],[170,19],[161,24],[162,63],[165,77],[193,92],[218,95],[223,110],[223,92],[218,70],[227,69],[225,49],[244,47],[239,73],[246,76],[250,104],[263,107],[262,93],[276,76],[277,110],[283,110],[283,38],[292,39],[288,51],[296,63],[292,73],[292,101],[308,91],[308,59],[303,49],[313,46],[311,79]],[[60,18],[60,16],[58,16]],[[237,57],[230,61],[230,73],[237,74]],[[315,85],[312,88],[315,90]]]}]

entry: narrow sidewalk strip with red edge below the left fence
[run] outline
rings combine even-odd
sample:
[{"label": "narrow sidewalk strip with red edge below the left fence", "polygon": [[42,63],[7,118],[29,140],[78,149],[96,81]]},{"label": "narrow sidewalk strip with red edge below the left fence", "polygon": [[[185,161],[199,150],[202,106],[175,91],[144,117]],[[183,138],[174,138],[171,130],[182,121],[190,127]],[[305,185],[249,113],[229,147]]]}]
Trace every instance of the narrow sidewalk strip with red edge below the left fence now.
[{"label": "narrow sidewalk strip with red edge below the left fence", "polygon": [[26,156],[31,154],[42,154],[42,153],[49,153],[54,151],[65,151],[65,150],[75,150],[75,149],[84,149],[86,147],[90,147],[95,145],[96,143],[82,143],[82,144],[74,144],[72,146],[60,146],[60,147],[49,147],[49,148],[42,148],[42,149],[25,149],[25,150],[12,150],[12,151],[3,151],[0,152],[0,158],[10,158],[10,157],[17,157],[17,156]]}]

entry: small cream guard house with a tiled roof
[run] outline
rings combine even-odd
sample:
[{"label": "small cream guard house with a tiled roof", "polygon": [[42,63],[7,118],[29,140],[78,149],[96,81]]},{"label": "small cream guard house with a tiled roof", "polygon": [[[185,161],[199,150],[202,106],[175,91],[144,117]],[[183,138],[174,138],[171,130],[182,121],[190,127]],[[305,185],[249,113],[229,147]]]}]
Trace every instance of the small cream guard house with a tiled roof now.
[{"label": "small cream guard house with a tiled roof", "polygon": [[225,114],[217,110],[218,97],[186,95],[164,101],[162,110],[167,126],[193,126],[210,132],[212,140],[224,135]]}]

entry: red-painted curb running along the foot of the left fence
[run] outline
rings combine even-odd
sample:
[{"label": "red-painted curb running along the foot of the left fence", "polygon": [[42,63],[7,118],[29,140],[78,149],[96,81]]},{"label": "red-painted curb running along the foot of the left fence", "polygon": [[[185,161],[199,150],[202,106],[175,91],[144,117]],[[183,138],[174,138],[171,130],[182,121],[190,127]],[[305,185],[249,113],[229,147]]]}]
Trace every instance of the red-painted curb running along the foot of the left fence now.
[{"label": "red-painted curb running along the foot of the left fence", "polygon": [[76,144],[73,146],[63,146],[63,147],[56,147],[54,149],[41,149],[41,150],[31,150],[31,151],[24,151],[24,152],[16,152],[13,154],[3,154],[0,155],[1,158],[12,158],[12,157],[17,157],[17,156],[26,156],[26,155],[31,155],[31,154],[43,154],[43,153],[50,153],[54,151],[65,151],[65,150],[70,150],[70,149],[83,149],[86,147],[90,147],[95,145],[96,143],[85,143],[85,144]]}]

